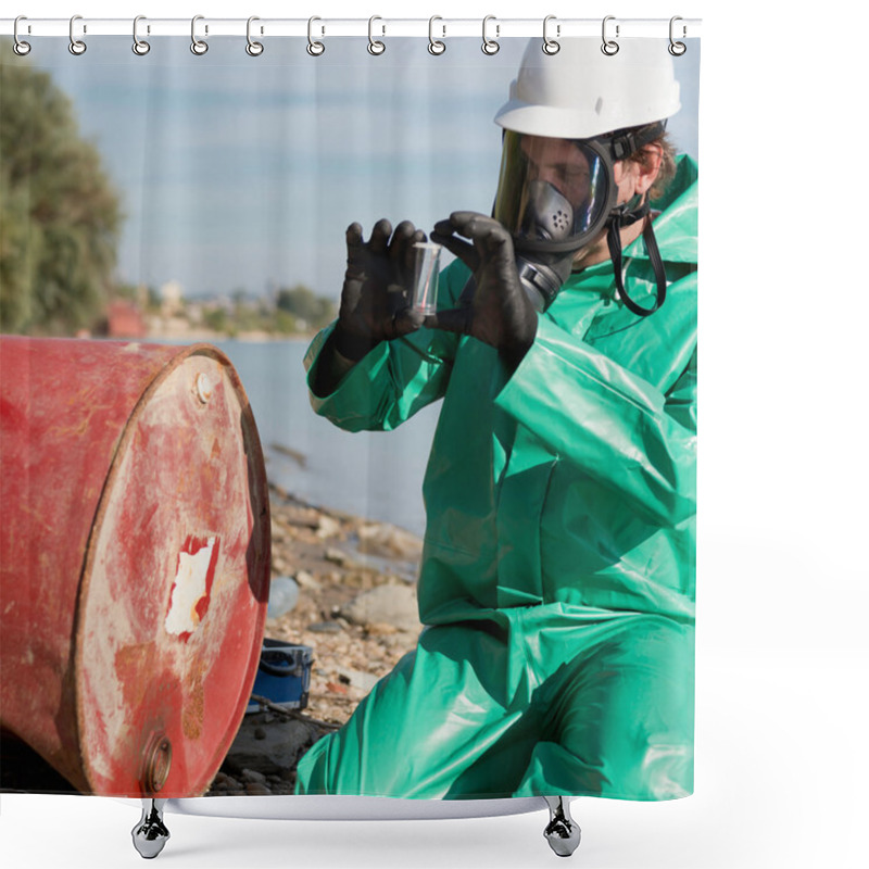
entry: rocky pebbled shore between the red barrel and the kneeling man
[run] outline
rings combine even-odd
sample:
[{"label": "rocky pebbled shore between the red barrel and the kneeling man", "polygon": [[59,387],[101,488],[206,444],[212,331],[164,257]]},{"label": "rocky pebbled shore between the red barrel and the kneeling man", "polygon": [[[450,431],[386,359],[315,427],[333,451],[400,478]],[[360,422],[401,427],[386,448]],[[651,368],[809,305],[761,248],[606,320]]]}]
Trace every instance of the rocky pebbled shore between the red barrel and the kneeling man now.
[{"label": "rocky pebbled shore between the red barrel and the kneeling man", "polygon": [[299,758],[343,725],[416,645],[421,541],[390,525],[306,504],[272,486],[272,577],[299,587],[265,635],[313,650],[308,704],[248,714],[209,796],[291,794]]}]

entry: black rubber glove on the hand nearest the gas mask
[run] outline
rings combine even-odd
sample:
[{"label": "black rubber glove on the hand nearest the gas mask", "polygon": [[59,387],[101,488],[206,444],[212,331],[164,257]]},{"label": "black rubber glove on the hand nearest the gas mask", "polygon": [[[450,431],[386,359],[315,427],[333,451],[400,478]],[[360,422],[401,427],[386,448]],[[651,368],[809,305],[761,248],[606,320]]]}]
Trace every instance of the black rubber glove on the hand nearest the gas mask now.
[{"label": "black rubber glove on the hand nearest the gas mask", "polygon": [[[469,238],[469,244],[456,238]],[[513,373],[537,335],[537,312],[516,270],[509,232],[492,217],[456,211],[434,225],[431,240],[452,251],[474,273],[459,306],[426,317],[426,326],[470,335],[498,349]]]}]

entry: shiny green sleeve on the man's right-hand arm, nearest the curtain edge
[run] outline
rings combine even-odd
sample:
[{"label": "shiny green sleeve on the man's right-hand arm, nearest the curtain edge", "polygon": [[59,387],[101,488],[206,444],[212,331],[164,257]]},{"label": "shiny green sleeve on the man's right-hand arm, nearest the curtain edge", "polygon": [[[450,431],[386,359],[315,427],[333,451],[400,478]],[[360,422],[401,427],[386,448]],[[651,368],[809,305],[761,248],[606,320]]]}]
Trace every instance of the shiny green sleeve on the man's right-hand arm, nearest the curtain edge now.
[{"label": "shiny green sleeve on the man's right-hand arm, nearest the curtain edge", "polygon": [[664,394],[545,317],[538,325],[496,404],[656,524],[694,514],[696,356]]}]

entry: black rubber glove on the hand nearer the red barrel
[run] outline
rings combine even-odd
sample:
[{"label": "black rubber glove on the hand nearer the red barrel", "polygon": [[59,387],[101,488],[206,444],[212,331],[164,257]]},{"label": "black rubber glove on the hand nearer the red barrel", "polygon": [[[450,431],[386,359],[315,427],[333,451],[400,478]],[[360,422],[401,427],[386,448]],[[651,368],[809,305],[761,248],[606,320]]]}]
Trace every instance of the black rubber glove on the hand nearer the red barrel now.
[{"label": "black rubber glove on the hand nearer the red barrel", "polygon": [[358,224],[348,227],[347,272],[333,332],[333,347],[344,358],[358,362],[380,341],[423,325],[424,315],[410,310],[408,295],[413,245],[425,240],[425,234],[410,221],[400,223],[394,232],[389,221],[378,221],[367,242],[362,240]]}]

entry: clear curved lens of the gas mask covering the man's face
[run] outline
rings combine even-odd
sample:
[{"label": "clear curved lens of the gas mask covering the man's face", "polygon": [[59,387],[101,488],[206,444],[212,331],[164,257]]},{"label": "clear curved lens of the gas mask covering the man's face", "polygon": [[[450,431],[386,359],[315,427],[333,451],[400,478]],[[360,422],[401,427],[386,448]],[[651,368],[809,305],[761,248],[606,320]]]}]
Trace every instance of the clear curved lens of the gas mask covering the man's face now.
[{"label": "clear curved lens of the gas mask covering the man's face", "polygon": [[582,247],[602,227],[608,194],[606,165],[582,141],[504,134],[493,216],[517,243]]}]

